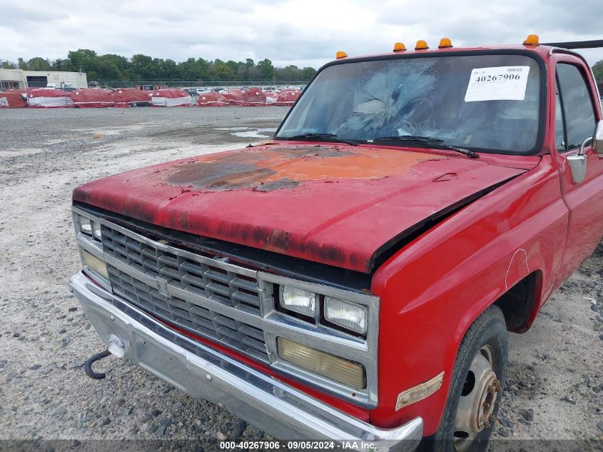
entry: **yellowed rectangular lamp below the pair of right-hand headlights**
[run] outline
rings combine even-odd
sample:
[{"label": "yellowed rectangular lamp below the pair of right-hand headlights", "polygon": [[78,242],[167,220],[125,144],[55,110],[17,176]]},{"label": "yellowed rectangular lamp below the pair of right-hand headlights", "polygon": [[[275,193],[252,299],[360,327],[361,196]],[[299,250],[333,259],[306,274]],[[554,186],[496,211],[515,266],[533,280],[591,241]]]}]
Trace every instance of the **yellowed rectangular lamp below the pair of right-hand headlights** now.
[{"label": "yellowed rectangular lamp below the pair of right-hand headlights", "polygon": [[338,358],[285,338],[277,338],[277,342],[278,356],[283,360],[353,388],[366,387],[365,368],[362,364]]}]

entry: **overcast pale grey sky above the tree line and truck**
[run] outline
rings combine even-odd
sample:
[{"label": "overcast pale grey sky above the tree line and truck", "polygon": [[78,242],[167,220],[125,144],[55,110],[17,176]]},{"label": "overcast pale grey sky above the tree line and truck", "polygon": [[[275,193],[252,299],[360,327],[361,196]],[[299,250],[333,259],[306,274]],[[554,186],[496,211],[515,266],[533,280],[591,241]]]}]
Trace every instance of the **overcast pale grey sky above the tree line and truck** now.
[{"label": "overcast pale grey sky above the tree line and truck", "polygon": [[[603,39],[602,0],[0,0],[0,59],[66,58],[69,50],[254,61],[318,68],[344,50]],[[598,17],[598,19],[597,19]],[[603,49],[582,52],[589,64]]]}]

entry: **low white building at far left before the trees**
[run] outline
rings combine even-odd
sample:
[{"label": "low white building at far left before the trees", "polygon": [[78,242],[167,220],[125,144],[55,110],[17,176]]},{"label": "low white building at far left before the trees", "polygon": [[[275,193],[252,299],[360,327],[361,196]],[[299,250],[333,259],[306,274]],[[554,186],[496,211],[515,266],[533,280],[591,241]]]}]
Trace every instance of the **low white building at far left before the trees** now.
[{"label": "low white building at far left before the trees", "polygon": [[0,69],[0,91],[2,89],[44,88],[46,84],[73,84],[76,88],[88,88],[88,79],[83,72],[24,71],[22,69]]}]

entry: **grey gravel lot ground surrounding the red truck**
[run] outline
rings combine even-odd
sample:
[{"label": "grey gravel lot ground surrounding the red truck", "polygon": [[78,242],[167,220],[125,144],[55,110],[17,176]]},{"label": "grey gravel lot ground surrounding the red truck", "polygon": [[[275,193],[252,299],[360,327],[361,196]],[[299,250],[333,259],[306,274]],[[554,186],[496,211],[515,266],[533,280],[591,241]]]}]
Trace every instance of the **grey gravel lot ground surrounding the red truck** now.
[{"label": "grey gravel lot ground surrounding the red truck", "polygon": [[[99,438],[195,439],[198,450],[210,450],[236,435],[237,418],[125,361],[98,363],[105,380],[84,375],[83,361],[103,343],[67,287],[80,268],[71,191],[118,171],[263,141],[258,134],[269,135],[285,113],[0,111],[0,439],[69,440],[60,444],[70,447]],[[233,135],[241,132],[247,136]],[[599,246],[532,329],[510,335],[493,449],[517,450],[510,438],[603,439],[602,262]],[[255,428],[244,433],[261,437]]]}]

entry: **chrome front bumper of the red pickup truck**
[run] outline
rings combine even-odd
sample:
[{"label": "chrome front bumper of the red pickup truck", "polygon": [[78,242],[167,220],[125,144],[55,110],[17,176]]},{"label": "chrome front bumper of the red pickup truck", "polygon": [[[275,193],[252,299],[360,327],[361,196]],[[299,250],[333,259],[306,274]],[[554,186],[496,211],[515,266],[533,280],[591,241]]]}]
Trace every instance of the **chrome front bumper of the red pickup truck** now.
[{"label": "chrome front bumper of the red pickup truck", "polygon": [[69,286],[111,353],[275,438],[371,441],[376,450],[395,451],[414,451],[421,440],[421,418],[377,428],[173,331],[81,272]]}]

